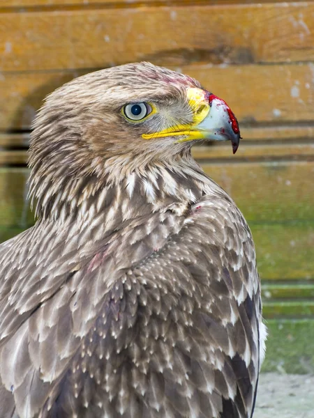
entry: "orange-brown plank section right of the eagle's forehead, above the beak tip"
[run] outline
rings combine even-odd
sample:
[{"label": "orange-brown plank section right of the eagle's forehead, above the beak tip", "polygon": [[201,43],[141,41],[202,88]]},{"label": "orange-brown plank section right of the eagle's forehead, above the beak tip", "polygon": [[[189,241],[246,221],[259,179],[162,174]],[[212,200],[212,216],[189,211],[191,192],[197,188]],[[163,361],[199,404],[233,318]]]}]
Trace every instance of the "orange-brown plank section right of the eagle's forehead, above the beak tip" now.
[{"label": "orange-brown plank section right of the eagle's forehead, above the beak tip", "polygon": [[186,65],[184,72],[224,98],[239,121],[292,123],[314,118],[313,65]]}]

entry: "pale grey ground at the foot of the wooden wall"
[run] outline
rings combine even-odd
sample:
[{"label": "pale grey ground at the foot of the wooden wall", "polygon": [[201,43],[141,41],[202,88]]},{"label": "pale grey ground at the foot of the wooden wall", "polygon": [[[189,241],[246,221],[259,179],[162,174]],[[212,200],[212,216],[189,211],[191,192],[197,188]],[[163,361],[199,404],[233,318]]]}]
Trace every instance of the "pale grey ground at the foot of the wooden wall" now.
[{"label": "pale grey ground at the foot of the wooden wall", "polygon": [[253,418],[314,418],[314,375],[262,373]]}]

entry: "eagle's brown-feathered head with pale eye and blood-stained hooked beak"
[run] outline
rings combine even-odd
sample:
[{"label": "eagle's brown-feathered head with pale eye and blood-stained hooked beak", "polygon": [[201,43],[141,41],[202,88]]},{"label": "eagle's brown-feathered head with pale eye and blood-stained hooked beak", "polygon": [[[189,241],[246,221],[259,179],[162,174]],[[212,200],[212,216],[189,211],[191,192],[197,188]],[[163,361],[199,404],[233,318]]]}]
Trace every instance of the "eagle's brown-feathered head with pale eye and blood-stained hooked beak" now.
[{"label": "eagle's brown-feathered head with pale eye and blood-stained hooked beak", "polygon": [[230,107],[191,77],[151,63],[91,72],[48,95],[38,112],[30,194],[43,199],[73,179],[171,166],[200,140],[230,140],[235,153],[239,139]]}]

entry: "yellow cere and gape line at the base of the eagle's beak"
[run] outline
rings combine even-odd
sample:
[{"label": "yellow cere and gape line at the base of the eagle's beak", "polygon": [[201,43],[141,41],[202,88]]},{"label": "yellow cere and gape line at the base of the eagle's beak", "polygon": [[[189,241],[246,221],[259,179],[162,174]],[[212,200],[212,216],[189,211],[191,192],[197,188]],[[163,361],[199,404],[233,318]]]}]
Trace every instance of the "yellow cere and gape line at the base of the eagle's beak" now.
[{"label": "yellow cere and gape line at the base of the eagle's beak", "polygon": [[201,88],[188,88],[186,95],[188,97],[188,104],[193,112],[192,123],[167,127],[167,129],[153,134],[142,134],[142,138],[152,139],[184,135],[186,138],[179,139],[177,142],[190,141],[191,139],[203,139],[205,133],[197,130],[197,125],[204,121],[204,118],[209,114],[209,102],[205,100],[205,93]]}]

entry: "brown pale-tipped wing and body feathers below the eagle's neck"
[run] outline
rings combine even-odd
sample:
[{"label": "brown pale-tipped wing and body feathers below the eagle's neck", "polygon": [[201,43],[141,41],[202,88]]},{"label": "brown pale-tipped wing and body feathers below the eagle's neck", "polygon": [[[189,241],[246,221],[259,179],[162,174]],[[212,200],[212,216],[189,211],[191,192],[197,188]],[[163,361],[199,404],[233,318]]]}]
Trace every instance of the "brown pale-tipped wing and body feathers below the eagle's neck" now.
[{"label": "brown pale-tipped wing and body feathers below the eagle's neck", "polygon": [[39,225],[0,246],[1,417],[251,417],[260,283],[233,204],[82,236]]}]

